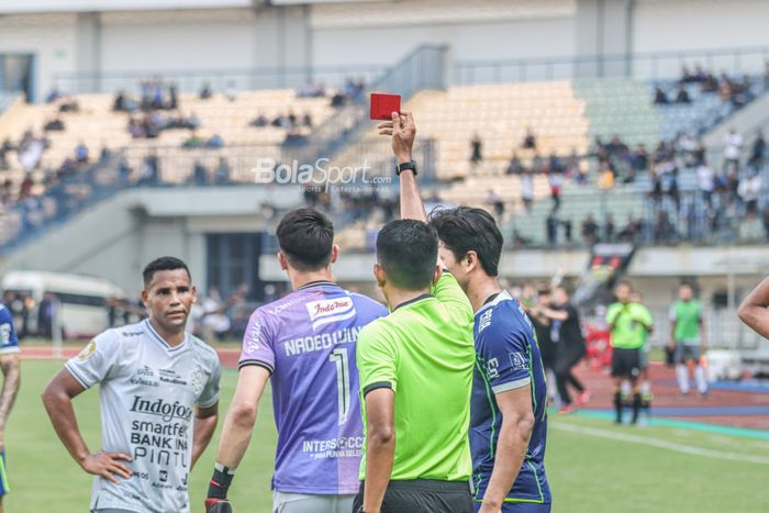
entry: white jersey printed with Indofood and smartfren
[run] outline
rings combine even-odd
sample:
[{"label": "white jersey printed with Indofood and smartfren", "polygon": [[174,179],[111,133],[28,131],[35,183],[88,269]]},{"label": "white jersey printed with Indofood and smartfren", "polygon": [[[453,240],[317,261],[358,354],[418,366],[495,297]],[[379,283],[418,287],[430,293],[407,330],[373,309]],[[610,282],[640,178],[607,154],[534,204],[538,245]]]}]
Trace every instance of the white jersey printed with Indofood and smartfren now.
[{"label": "white jersey printed with Indofood and smartfren", "polygon": [[85,388],[100,383],[101,448],[125,453],[130,479],[93,479],[91,510],[187,513],[194,406],[219,401],[216,352],[197,337],[169,346],[149,321],[108,330],[66,368]]}]

